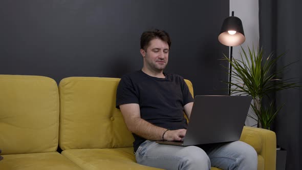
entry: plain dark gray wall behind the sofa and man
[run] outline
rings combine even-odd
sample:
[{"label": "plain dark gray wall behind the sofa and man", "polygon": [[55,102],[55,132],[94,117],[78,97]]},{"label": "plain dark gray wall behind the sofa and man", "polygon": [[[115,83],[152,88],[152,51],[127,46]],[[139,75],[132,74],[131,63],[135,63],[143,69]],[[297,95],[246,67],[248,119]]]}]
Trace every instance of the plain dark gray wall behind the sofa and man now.
[{"label": "plain dark gray wall behind the sofa and man", "polygon": [[172,39],[166,72],[195,94],[226,94],[228,48],[218,41],[229,1],[0,2],[0,74],[121,77],[142,68],[139,38],[150,28]]}]

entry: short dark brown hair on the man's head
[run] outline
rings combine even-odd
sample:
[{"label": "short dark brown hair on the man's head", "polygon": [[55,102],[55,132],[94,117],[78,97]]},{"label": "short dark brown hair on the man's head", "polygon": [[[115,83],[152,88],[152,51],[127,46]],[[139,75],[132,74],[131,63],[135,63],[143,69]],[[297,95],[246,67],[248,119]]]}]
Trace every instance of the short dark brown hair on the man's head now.
[{"label": "short dark brown hair on the man's head", "polygon": [[155,38],[159,38],[169,45],[169,48],[171,46],[171,39],[170,36],[167,32],[164,30],[158,30],[158,29],[153,29],[149,31],[145,31],[141,35],[141,49],[147,50],[147,47],[149,46],[149,42]]}]

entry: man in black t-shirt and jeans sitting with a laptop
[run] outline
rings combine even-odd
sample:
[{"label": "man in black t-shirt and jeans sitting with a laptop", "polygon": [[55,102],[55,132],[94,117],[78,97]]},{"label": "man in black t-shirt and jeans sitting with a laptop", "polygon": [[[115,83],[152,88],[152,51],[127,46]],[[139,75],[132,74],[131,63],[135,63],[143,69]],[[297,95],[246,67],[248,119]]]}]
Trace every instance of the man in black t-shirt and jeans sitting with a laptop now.
[{"label": "man in black t-shirt and jeans sitting with a laptop", "polygon": [[185,136],[183,111],[189,118],[193,98],[181,76],[163,72],[171,45],[168,33],[143,32],[140,45],[143,68],[121,78],[116,99],[135,138],[137,162],[164,169],[257,169],[257,153],[241,141],[199,147],[155,142],[180,141]]}]

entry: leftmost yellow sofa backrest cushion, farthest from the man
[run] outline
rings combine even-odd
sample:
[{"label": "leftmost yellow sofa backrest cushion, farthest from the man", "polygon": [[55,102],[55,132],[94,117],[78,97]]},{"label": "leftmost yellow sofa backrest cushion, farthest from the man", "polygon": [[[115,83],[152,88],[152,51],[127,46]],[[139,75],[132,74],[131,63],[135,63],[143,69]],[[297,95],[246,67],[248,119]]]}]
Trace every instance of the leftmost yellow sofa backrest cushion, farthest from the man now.
[{"label": "leftmost yellow sofa backrest cushion, farthest from the man", "polygon": [[55,152],[58,133],[57,83],[44,76],[0,75],[2,154]]}]

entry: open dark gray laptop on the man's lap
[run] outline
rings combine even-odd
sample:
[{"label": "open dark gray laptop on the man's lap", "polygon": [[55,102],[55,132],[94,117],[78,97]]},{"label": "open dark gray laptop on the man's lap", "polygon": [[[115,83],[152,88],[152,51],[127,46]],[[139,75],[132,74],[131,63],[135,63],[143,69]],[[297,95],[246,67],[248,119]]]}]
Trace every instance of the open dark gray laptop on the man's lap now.
[{"label": "open dark gray laptop on the man's lap", "polygon": [[182,141],[156,141],[180,146],[231,142],[240,139],[251,96],[198,95],[194,99]]}]

